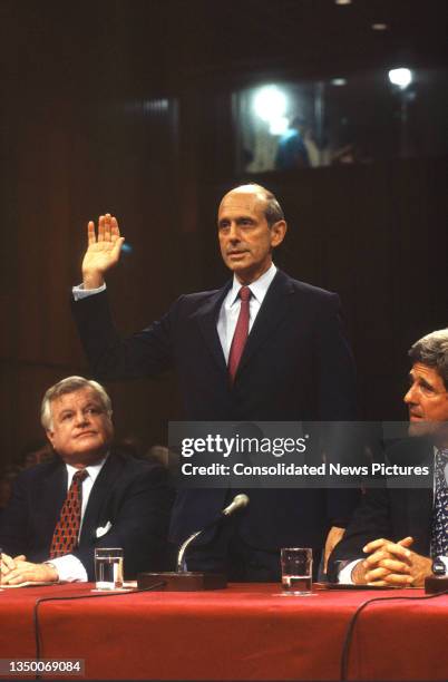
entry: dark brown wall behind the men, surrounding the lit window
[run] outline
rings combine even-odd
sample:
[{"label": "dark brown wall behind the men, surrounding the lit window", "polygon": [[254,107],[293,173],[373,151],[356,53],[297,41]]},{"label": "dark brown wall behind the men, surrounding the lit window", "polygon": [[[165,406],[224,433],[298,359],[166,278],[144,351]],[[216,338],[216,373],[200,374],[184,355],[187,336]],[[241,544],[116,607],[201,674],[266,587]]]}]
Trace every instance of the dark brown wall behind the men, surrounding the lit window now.
[{"label": "dark brown wall behind the men, surrounding the lit window", "polygon": [[[401,0],[1,3],[3,461],[40,436],[46,388],[88,371],[68,305],[87,221],[115,213],[133,249],[108,282],[124,333],[222,284],[216,205],[247,179],[234,173],[233,89],[403,59],[446,66],[446,3],[421,12]],[[381,18],[391,30],[376,35]],[[279,264],[342,296],[367,418],[405,417],[406,350],[448,323],[447,165],[256,178],[289,218]],[[164,441],[181,416],[174,377],[108,388],[120,437]]]}]

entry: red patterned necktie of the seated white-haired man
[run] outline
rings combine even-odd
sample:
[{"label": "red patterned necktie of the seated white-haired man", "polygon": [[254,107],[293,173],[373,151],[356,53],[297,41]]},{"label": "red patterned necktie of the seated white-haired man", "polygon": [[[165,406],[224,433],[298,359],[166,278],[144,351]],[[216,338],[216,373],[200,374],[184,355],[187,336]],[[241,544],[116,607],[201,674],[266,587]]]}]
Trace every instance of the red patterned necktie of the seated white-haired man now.
[{"label": "red patterned necktie of the seated white-haired man", "polygon": [[68,489],[59,520],[52,534],[50,558],[70,554],[78,544],[81,524],[82,481],[87,476],[86,469],[81,469],[75,474],[71,480],[71,486]]}]

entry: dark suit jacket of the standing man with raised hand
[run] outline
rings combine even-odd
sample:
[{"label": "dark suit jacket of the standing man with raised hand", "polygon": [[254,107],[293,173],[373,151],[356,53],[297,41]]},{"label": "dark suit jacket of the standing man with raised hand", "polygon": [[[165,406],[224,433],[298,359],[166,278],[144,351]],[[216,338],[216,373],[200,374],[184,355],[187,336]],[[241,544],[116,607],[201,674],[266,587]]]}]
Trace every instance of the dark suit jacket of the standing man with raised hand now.
[{"label": "dark suit jacket of the standing man with raised hand", "polygon": [[[185,417],[196,421],[349,420],[356,415],[353,360],[337,294],[279,271],[249,335],[233,387],[216,331],[231,282],[181,296],[160,321],[121,341],[107,294],[74,302],[81,342],[95,376],[154,376],[175,367]],[[203,527],[226,490],[182,490],[171,526],[174,542]],[[347,491],[251,490],[241,534],[259,548],[291,543],[320,547],[329,524],[344,519]]]}]

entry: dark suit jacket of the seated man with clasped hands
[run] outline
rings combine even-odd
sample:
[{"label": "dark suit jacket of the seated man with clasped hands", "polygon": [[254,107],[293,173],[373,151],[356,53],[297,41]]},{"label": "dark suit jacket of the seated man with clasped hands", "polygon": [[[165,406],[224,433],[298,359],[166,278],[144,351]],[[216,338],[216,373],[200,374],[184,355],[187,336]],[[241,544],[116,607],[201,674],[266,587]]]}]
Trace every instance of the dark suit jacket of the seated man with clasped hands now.
[{"label": "dark suit jacket of the seated man with clasped hands", "polygon": [[432,517],[434,448],[421,438],[406,439],[388,452],[390,464],[427,466],[427,487],[370,488],[362,496],[343,539],[329,559],[329,576],[335,582],[338,562],[364,558],[362,547],[384,537],[395,542],[412,536],[412,551],[429,556]]}]

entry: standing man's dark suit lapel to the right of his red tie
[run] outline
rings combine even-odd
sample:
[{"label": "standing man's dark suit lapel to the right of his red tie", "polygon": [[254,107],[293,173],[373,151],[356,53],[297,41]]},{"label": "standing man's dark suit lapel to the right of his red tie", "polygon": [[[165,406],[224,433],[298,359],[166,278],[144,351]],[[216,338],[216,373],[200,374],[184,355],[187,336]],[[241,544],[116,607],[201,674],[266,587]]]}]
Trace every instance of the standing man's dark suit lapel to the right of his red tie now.
[{"label": "standing man's dark suit lapel to the right of his red tie", "polygon": [[260,344],[275,332],[281,320],[288,315],[293,291],[293,286],[288,275],[279,270],[264,296],[259,314],[247,337],[247,342],[244,347],[244,352],[236,371],[236,381]]}]

